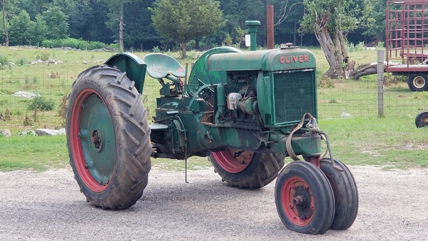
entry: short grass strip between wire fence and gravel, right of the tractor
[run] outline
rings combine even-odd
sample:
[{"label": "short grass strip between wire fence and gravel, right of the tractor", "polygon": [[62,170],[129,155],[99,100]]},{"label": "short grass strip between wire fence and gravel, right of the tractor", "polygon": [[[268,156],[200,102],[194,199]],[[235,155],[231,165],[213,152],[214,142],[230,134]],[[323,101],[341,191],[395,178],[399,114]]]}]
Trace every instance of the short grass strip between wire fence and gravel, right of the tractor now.
[{"label": "short grass strip between wire fence and gravel, right of the tractor", "polygon": [[416,128],[414,118],[321,119],[333,158],[350,165],[423,167],[428,163],[428,128]]}]

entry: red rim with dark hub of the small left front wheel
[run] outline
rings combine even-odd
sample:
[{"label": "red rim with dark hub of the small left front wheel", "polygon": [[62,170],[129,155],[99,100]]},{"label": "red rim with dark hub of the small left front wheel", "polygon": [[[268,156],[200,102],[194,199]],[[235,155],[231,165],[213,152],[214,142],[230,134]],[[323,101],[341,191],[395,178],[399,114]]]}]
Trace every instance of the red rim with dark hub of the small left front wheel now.
[{"label": "red rim with dark hub of the small left front wheel", "polygon": [[289,178],[281,190],[282,210],[290,222],[297,226],[308,225],[315,212],[312,191],[302,178]]}]

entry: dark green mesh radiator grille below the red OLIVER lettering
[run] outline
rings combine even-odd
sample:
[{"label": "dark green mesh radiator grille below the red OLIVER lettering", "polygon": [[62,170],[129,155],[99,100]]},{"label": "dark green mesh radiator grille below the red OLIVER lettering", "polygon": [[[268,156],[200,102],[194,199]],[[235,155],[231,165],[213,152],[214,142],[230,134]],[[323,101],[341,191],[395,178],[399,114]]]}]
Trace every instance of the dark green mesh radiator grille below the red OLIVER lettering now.
[{"label": "dark green mesh radiator grille below the red OLIVER lettering", "polygon": [[309,112],[316,115],[313,71],[274,73],[275,125],[296,123]]}]

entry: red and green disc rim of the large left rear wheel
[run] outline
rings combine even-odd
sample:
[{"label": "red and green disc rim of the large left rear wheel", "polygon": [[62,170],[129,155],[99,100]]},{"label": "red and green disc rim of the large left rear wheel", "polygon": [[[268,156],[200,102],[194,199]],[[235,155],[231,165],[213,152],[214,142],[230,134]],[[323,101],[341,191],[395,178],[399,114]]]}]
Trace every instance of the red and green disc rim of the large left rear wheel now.
[{"label": "red and green disc rim of the large left rear wheel", "polygon": [[83,183],[93,192],[108,188],[116,164],[116,140],[103,98],[91,88],[76,97],[70,135],[73,162]]}]

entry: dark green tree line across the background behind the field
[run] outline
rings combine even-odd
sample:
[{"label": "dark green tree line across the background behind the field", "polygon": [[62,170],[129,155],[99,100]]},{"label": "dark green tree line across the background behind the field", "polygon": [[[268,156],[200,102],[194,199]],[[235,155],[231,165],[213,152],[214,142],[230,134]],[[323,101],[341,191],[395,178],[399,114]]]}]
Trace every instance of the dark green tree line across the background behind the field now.
[{"label": "dark green tree line across the background behind the field", "polygon": [[[119,43],[126,50],[185,43],[239,48],[245,21],[258,20],[258,45],[266,43],[266,6],[275,11],[275,43],[317,45],[331,62],[329,74],[343,75],[345,41],[384,40],[386,0],[0,0],[0,43],[11,45]],[[3,24],[4,23],[4,24]],[[155,30],[156,29],[156,30]],[[10,32],[10,33],[9,33]],[[324,34],[322,34],[324,33]],[[325,34],[328,33],[328,34]],[[88,41],[88,42],[86,42]],[[335,53],[335,54],[331,54]]]}]

